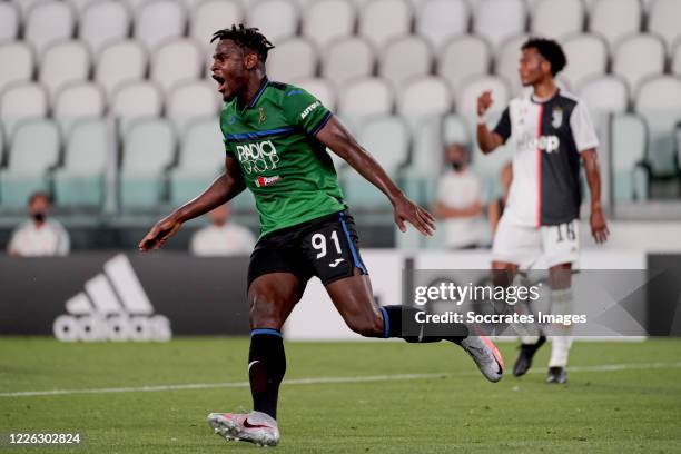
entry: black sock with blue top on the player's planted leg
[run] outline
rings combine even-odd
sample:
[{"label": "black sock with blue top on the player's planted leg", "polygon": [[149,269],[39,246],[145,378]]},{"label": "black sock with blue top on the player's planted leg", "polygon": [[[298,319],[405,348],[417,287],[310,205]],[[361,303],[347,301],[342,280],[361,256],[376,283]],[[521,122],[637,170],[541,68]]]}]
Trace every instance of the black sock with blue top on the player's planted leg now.
[{"label": "black sock with blue top on the player's planted leg", "polygon": [[259,328],[250,332],[248,381],[253,409],[277,418],[279,384],[286,373],[284,339],[278,329]]}]

